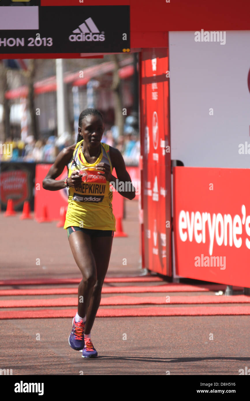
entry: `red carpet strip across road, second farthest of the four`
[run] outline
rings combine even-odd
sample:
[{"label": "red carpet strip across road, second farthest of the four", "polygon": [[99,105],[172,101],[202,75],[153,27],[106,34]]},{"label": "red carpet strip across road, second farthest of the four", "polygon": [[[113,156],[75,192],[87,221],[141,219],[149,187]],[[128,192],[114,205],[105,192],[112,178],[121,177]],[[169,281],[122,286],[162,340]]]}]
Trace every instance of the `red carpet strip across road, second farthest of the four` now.
[{"label": "red carpet strip across road, second farthest of the four", "polygon": [[[143,292],[203,292],[226,290],[223,284],[206,284],[204,286],[191,286],[186,284],[163,284],[159,286],[148,287],[103,287],[102,294],[119,294],[119,293],[143,293]],[[243,290],[242,287],[234,287],[234,290]],[[58,294],[77,294],[75,288],[37,288],[24,290],[0,290],[0,296],[16,296],[16,295],[58,295]]]}]

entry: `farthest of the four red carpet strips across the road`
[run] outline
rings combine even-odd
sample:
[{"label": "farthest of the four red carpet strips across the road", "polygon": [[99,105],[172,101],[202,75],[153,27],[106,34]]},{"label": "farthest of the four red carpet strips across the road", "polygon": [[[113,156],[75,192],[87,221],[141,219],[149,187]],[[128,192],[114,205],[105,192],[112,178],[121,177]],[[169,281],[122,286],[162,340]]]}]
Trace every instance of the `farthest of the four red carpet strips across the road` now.
[{"label": "farthest of the four red carpet strips across the road", "polygon": [[[20,280],[0,280],[0,286],[34,286],[45,284],[79,284],[81,278],[38,278]],[[106,277],[104,283],[144,283],[144,282],[163,282],[158,276],[138,276],[138,277]]]}]

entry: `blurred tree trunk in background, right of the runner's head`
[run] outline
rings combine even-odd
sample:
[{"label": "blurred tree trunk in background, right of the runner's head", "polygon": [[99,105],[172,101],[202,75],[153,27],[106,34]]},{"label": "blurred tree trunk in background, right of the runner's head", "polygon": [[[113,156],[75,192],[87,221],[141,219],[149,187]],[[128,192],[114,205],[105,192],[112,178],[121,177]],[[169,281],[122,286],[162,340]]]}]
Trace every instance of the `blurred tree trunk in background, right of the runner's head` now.
[{"label": "blurred tree trunk in background, right of the runner's head", "polygon": [[122,105],[120,77],[118,74],[118,71],[119,71],[118,56],[116,54],[112,54],[112,55],[110,55],[110,57],[115,65],[114,73],[113,73],[113,83],[111,86],[111,89],[114,93],[115,125],[118,127],[119,136],[122,136],[123,135],[123,126],[124,126],[122,109],[124,107]]}]

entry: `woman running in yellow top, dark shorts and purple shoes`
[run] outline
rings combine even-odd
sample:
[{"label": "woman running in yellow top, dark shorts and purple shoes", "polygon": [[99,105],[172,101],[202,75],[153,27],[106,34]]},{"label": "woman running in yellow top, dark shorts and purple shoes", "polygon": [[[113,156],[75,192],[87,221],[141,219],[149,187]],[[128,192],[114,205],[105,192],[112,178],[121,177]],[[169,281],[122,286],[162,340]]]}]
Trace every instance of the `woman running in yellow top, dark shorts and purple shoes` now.
[{"label": "woman running in yellow top, dark shorts and purple shoes", "polygon": [[[64,229],[67,229],[69,245],[82,274],[78,287],[78,311],[73,318],[69,345],[74,350],[83,350],[83,358],[98,356],[91,342],[91,328],[100,306],[116,231],[110,182],[116,183],[115,189],[125,198],[135,197],[135,188],[122,154],[101,142],[103,133],[104,120],[100,111],[83,110],[79,116],[77,144],[59,153],[43,180],[43,188],[47,190],[69,188]],[[65,166],[68,177],[56,180]],[[112,175],[113,168],[118,182]],[[122,189],[125,190],[120,190],[120,182],[124,182]]]}]

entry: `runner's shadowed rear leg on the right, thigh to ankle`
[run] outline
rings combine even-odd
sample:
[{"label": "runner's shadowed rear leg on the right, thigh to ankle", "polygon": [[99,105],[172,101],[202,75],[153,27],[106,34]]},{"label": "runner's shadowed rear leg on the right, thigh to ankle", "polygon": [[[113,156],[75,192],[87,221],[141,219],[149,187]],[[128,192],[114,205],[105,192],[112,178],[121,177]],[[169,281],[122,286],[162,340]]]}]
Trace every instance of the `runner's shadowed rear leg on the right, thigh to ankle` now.
[{"label": "runner's shadowed rear leg on the right, thigh to ankle", "polygon": [[87,308],[87,320],[85,326],[85,333],[89,334],[96,318],[96,313],[101,302],[101,292],[108,270],[112,249],[113,237],[92,237],[92,252],[96,261],[97,281],[93,288],[92,296],[90,298],[89,306]]}]

